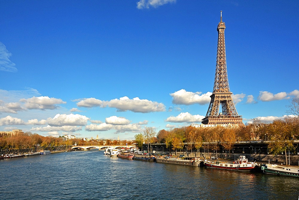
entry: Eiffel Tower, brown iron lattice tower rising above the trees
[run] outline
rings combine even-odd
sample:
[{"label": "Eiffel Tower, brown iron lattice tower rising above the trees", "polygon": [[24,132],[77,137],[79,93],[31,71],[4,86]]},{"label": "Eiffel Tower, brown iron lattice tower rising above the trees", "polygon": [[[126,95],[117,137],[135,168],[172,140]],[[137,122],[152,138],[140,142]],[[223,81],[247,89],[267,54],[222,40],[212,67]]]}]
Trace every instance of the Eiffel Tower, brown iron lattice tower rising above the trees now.
[{"label": "Eiffel Tower, brown iron lattice tower rising above the trees", "polygon": [[[237,113],[234,102],[231,98],[231,95],[233,93],[230,92],[228,86],[224,41],[225,23],[222,22],[222,10],[220,11],[220,13],[220,22],[217,27],[218,46],[214,88],[213,94],[210,96],[211,101],[208,112],[205,118],[202,119],[202,124],[242,127],[244,126],[242,122],[242,116],[239,116]],[[219,113],[220,105],[222,108],[222,112]]]}]

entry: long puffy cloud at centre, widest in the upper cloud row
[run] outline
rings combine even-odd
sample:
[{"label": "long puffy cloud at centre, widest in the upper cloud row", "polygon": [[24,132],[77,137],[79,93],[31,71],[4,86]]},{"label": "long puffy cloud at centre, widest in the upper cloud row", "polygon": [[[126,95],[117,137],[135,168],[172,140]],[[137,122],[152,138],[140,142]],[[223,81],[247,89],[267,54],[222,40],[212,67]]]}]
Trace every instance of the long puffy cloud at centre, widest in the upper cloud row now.
[{"label": "long puffy cloud at centre, widest in the upper cloud row", "polygon": [[135,113],[150,113],[165,111],[165,106],[162,103],[149,101],[147,99],[129,99],[128,97],[121,97],[119,99],[112,99],[108,103],[109,107],[117,108],[118,111],[130,110]]}]

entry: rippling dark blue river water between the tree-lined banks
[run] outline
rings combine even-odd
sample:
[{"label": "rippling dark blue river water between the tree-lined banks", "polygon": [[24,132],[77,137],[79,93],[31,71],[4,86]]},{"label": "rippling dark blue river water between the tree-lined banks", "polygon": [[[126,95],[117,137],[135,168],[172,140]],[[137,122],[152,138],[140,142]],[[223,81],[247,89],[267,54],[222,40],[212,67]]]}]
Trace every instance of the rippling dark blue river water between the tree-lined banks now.
[{"label": "rippling dark blue river water between the tree-lined banks", "polygon": [[299,178],[72,151],[0,160],[0,199],[298,199]]}]

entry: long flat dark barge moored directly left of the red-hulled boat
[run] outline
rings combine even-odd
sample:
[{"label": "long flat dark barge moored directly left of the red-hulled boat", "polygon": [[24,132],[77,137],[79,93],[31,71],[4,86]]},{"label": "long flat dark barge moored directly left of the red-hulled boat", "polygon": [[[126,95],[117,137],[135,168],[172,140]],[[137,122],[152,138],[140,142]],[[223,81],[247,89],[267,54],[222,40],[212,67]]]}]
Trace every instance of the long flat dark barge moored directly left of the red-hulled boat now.
[{"label": "long flat dark barge moored directly left of the red-hulled boat", "polygon": [[156,162],[176,165],[203,166],[203,160],[200,157],[157,157]]}]

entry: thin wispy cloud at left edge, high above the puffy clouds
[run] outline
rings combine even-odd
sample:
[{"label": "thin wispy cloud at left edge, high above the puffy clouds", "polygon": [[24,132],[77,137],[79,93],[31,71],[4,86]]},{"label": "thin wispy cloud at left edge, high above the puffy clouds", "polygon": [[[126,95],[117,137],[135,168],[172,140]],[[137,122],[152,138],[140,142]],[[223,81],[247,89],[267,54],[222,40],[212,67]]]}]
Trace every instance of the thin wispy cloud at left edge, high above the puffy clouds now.
[{"label": "thin wispy cloud at left edge, high above the puffy clouds", "polygon": [[11,53],[7,51],[5,45],[0,42],[0,70],[5,72],[17,72],[16,64],[9,60]]}]

